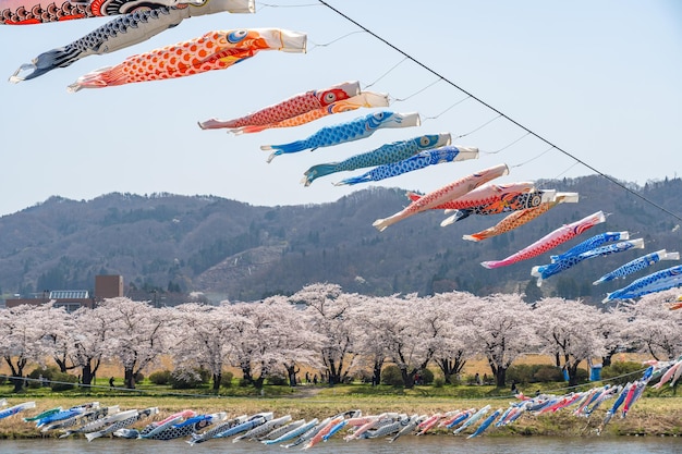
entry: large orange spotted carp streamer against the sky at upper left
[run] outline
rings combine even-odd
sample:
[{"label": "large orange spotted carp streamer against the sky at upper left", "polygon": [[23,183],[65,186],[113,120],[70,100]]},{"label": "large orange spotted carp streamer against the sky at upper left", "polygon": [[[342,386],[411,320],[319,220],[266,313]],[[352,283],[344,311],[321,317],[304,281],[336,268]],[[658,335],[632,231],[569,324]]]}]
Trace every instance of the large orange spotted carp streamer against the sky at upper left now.
[{"label": "large orange spotted carp streamer against the sky at upper left", "polygon": [[80,77],[69,91],[183,77],[224,70],[261,50],[305,52],[306,35],[280,28],[209,32],[199,38],[129,57]]}]

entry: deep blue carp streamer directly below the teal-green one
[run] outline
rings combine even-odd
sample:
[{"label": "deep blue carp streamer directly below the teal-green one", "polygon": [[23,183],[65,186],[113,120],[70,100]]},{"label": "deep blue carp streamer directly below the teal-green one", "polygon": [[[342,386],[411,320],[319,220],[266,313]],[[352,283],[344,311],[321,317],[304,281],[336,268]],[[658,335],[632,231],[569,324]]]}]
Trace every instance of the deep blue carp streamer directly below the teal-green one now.
[{"label": "deep blue carp streamer directly below the teal-green one", "polygon": [[433,150],[421,151],[418,155],[403,159],[402,161],[379,165],[360,176],[351,176],[349,179],[341,180],[334,185],[342,186],[344,184],[354,185],[370,181],[378,182],[392,176],[402,175],[403,173],[424,169],[428,165],[436,165],[442,162],[458,162],[476,158],[478,158],[478,148],[448,145]]}]

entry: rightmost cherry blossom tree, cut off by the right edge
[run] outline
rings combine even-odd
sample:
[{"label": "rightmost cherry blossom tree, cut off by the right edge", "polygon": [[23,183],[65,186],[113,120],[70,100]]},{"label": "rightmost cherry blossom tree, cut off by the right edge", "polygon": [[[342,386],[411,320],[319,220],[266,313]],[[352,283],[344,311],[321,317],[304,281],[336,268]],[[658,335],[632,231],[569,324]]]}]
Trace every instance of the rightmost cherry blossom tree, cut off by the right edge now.
[{"label": "rightmost cherry blossom tree, cut off by the right edge", "polygon": [[678,294],[679,290],[651,293],[628,305],[632,321],[625,334],[655,359],[672,360],[682,354],[682,311],[667,308]]}]

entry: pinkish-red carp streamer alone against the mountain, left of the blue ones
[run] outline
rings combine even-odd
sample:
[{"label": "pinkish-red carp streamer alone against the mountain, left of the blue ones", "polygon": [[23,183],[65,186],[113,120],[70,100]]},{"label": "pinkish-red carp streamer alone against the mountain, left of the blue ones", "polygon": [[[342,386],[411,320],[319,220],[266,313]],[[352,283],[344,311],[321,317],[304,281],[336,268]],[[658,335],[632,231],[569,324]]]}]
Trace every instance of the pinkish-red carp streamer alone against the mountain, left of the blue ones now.
[{"label": "pinkish-red carp streamer alone against the mountain, left of the blue ones", "polygon": [[521,260],[527,260],[533,257],[537,257],[540,254],[545,254],[546,251],[553,249],[562,243],[568,242],[571,238],[580,235],[586,230],[600,224],[606,221],[606,216],[604,216],[602,211],[597,211],[594,214],[589,214],[580,221],[575,221],[568,225],[562,225],[553,232],[543,236],[540,240],[536,241],[532,245],[524,247],[517,253],[512,254],[511,256],[502,259],[502,260],[491,260],[484,261],[480,265],[485,268],[500,268],[507,267],[512,263],[516,263]]}]

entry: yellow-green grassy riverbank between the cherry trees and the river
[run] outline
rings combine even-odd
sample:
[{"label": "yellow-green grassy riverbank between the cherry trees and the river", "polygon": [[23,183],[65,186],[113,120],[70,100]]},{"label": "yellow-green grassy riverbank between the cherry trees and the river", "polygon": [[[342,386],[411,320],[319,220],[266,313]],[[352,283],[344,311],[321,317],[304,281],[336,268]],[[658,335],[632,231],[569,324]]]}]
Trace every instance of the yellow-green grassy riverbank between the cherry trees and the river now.
[{"label": "yellow-green grassy riverbank between the cherry trees and the river", "polygon": [[[548,384],[549,385],[549,384]],[[592,383],[597,385],[597,383]],[[350,408],[360,408],[363,414],[399,412],[406,414],[434,414],[458,408],[480,408],[490,404],[492,408],[509,405],[514,401],[506,395],[508,390],[494,386],[416,386],[403,390],[387,385],[349,384],[329,386],[303,385],[265,386],[263,393],[253,388],[232,386],[222,389],[221,395],[210,396],[210,390],[171,391],[168,386],[142,384],[136,391],[108,386],[89,391],[74,390],[53,393],[49,388],[32,389],[24,394],[12,394],[10,385],[0,386],[0,398],[9,405],[35,401],[36,408],[0,420],[0,439],[42,437],[35,425],[21,418],[33,416],[48,408],[71,407],[85,402],[98,401],[101,406],[120,405],[121,409],[146,408],[157,406],[160,413],[156,420],[170,413],[192,408],[197,413],[227,412],[231,416],[275,412],[276,416],[290,414],[294,419],[324,418]],[[550,391],[551,389],[547,389]],[[561,394],[563,391],[558,391]],[[612,401],[607,401],[602,408],[589,419],[577,418],[571,408],[551,415],[524,415],[506,428],[492,428],[486,435],[560,435],[585,437],[596,434],[606,409]],[[148,421],[141,424],[144,426]],[[442,431],[441,433],[448,433]],[[670,391],[658,393],[647,391],[642,400],[628,414],[625,419],[616,416],[602,435],[646,434],[682,435],[682,398],[671,395]],[[59,433],[48,434],[58,437]]]}]

